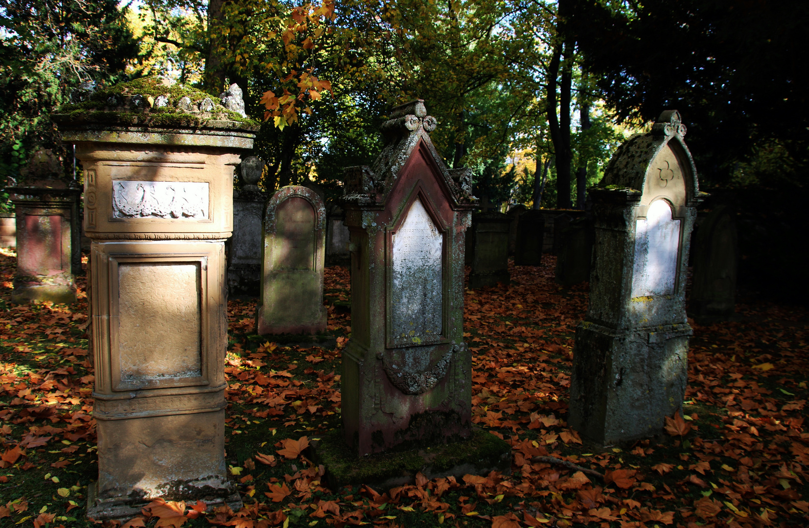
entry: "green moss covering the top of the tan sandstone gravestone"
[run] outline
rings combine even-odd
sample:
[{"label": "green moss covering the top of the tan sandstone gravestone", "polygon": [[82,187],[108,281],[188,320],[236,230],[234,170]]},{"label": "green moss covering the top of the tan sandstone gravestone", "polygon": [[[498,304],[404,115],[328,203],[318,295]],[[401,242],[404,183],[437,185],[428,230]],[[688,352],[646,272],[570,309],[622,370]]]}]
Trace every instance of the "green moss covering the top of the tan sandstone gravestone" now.
[{"label": "green moss covering the top of the tan sandstone gravestone", "polygon": [[[257,130],[260,123],[242,117],[220,104],[217,95],[180,83],[167,83],[163,78],[145,77],[121,82],[94,92],[79,103],[67,103],[51,118],[63,128],[86,128],[91,125],[138,126],[161,129],[213,128]],[[138,95],[141,96],[138,99]],[[167,99],[166,106],[155,107],[157,99]],[[193,110],[179,108],[180,99],[187,97]],[[149,99],[151,98],[151,100]],[[205,99],[214,103],[210,112],[199,110]],[[214,121],[216,121],[214,123]],[[222,126],[231,121],[232,125]]]}]

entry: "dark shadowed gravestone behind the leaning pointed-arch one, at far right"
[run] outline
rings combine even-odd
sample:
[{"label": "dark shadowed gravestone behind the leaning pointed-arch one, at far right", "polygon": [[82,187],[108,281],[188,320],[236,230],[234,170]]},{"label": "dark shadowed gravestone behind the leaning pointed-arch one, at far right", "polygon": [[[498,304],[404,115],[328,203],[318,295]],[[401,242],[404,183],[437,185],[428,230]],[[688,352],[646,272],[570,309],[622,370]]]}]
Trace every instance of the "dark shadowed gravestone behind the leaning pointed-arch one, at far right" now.
[{"label": "dark shadowed gravestone behind the leaning pointed-arch one, at far right", "polygon": [[719,205],[694,237],[688,315],[697,323],[734,318],[738,251],[735,215],[726,205]]}]

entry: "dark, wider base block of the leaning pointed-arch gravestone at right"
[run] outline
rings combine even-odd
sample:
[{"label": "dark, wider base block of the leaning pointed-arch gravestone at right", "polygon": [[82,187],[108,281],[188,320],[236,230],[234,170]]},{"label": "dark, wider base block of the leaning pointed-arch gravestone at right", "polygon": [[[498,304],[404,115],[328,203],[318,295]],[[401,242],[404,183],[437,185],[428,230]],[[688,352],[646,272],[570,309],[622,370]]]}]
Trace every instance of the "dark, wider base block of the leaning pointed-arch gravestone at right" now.
[{"label": "dark, wider base block of the leaning pointed-arch gravestone at right", "polygon": [[691,333],[688,324],[629,332],[579,324],[568,424],[601,446],[663,433],[683,406]]}]

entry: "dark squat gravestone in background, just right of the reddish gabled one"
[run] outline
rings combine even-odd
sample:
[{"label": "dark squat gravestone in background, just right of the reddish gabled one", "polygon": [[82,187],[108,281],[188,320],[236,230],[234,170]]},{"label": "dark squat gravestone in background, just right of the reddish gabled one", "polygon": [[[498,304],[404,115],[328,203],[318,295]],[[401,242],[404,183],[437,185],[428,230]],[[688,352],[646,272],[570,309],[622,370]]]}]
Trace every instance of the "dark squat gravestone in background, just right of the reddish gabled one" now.
[{"label": "dark squat gravestone in background, just right of the reddish gabled one", "polygon": [[511,219],[504,213],[475,213],[466,237],[469,288],[508,284],[508,230]]}]

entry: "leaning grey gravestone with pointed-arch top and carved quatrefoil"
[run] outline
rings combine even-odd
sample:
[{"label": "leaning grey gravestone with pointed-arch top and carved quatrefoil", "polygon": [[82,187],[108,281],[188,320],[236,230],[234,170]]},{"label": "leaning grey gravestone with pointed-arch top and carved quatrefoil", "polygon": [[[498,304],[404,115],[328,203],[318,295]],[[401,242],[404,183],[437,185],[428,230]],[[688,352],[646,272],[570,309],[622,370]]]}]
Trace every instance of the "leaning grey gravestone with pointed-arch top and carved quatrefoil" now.
[{"label": "leaning grey gravestone with pointed-arch top and carved quatrefoil", "polygon": [[663,432],[688,378],[685,279],[705,193],[674,110],[612,156],[595,212],[590,306],[576,328],[568,422],[602,445]]}]

